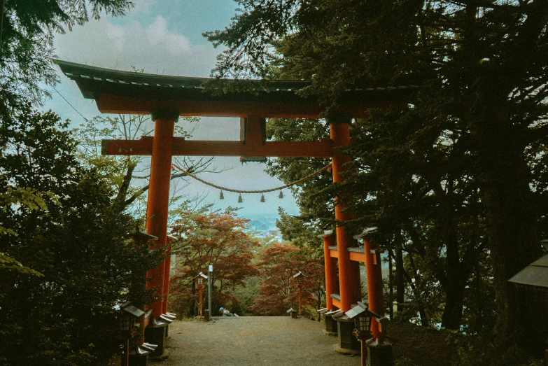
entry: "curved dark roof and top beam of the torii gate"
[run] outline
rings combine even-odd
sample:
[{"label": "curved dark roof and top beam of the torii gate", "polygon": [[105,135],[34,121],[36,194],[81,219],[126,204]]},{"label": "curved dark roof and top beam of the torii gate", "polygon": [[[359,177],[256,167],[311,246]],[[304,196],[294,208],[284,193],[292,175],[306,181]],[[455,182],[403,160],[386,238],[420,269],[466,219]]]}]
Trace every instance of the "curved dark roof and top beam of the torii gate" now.
[{"label": "curved dark roof and top beam of the torii gate", "polygon": [[[94,99],[101,113],[148,114],[157,109],[175,109],[180,115],[318,118],[325,106],[316,97],[295,92],[310,85],[309,80],[225,80],[225,86],[206,89],[213,78],[166,76],[104,69],[54,60],[80,88],[83,96]],[[386,108],[409,98],[418,85],[407,78],[391,85],[373,81],[346,90],[330,112],[367,116],[368,108]],[[241,91],[244,90],[244,91]]]}]

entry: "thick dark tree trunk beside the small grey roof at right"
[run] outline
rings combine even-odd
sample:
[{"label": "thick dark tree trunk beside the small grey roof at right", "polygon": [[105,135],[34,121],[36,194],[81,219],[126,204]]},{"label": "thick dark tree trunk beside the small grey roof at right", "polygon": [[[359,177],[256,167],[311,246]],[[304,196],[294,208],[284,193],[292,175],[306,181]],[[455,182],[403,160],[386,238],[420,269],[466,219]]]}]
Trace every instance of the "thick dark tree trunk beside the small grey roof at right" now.
[{"label": "thick dark tree trunk beside the small grey roof at right", "polygon": [[542,255],[536,221],[539,211],[529,187],[525,146],[510,121],[479,128],[484,171],[481,194],[496,291],[494,333],[499,340],[513,336],[532,353],[541,353],[548,334],[547,296],[507,282]]}]

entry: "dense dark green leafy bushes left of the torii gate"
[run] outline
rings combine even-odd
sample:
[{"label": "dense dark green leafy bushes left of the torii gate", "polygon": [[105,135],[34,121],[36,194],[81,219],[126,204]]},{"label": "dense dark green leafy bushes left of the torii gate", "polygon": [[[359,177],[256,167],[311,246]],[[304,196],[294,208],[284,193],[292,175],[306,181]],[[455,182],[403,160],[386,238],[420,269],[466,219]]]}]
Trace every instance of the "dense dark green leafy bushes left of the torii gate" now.
[{"label": "dense dark green leafy bushes left of the torii gate", "polygon": [[104,176],[78,164],[65,127],[55,113],[29,106],[0,126],[0,226],[12,230],[0,241],[6,365],[108,359],[118,349],[113,307],[132,299],[136,272],[161,260],[134,250],[128,236],[136,221],[116,209]]}]

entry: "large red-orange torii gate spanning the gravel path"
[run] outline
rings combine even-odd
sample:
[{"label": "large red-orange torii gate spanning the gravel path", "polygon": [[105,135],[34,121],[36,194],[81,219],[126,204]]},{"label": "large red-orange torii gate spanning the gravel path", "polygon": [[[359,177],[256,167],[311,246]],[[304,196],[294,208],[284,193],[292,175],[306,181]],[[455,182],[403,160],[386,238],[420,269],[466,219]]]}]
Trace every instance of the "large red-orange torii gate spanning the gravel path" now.
[{"label": "large red-orange torii gate spanning the gravel path", "polygon": [[[333,181],[342,181],[344,164],[351,157],[339,152],[339,147],[349,145],[349,124],[352,118],[367,117],[369,108],[386,108],[401,103],[416,85],[407,80],[386,86],[367,83],[366,86],[342,93],[341,99],[325,117],[329,124],[330,139],[320,141],[266,141],[265,118],[318,118],[325,106],[314,97],[295,94],[310,85],[305,80],[225,80],[248,86],[248,92],[204,92],[209,78],[160,76],[102,69],[93,66],[55,60],[64,75],[76,81],[83,96],[94,99],[101,113],[150,114],[154,121],[154,135],[140,140],[104,140],[104,155],[151,155],[150,183],[146,213],[148,234],[157,237],[155,246],[167,244],[167,211],[171,157],[173,155],[240,156],[240,157],[331,157]],[[251,92],[250,92],[251,91]],[[183,116],[235,116],[241,119],[240,141],[192,141],[174,137],[174,124]],[[335,197],[337,199],[337,197]],[[342,205],[335,206],[335,218],[351,218]],[[379,279],[380,258],[365,240],[365,249],[352,248],[353,238],[344,227],[337,226],[336,235],[325,235],[325,280],[328,309],[342,311],[361,300],[359,262],[379,264],[377,274],[367,265],[367,283],[370,285],[370,309],[384,314],[382,287],[372,286],[370,279]],[[332,244],[335,244],[336,247]],[[339,294],[332,293],[339,271]],[[153,323],[167,312],[169,265],[150,269],[153,280],[149,288],[158,288],[162,298],[151,304]],[[374,291],[372,289],[374,288]],[[377,294],[377,291],[379,293]],[[157,322],[156,322],[157,323]],[[160,344],[157,353],[163,352],[164,328],[150,340]],[[348,331],[344,331],[348,333]],[[340,333],[340,332],[339,332]],[[349,333],[351,338],[351,329]],[[339,342],[345,348],[339,334]],[[348,341],[350,348],[350,341]]]}]

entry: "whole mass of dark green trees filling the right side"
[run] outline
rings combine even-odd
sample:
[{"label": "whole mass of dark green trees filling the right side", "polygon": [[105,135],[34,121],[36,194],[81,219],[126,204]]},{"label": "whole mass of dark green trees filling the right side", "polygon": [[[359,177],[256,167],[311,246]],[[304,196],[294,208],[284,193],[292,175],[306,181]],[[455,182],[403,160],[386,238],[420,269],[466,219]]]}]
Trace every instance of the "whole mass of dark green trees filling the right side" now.
[{"label": "whole mass of dark green trees filling the right side", "polygon": [[[412,272],[409,288],[419,276],[436,279],[449,328],[460,328],[464,303],[492,315],[493,302],[474,300],[494,288],[499,339],[525,328],[528,337],[515,340],[542,351],[548,316],[538,309],[546,299],[516,295],[507,280],[541,255],[538,240],[548,232],[548,2],[240,3],[229,27],[206,34],[227,45],[218,76],[309,78],[300,93],[327,106],[343,90],[420,76],[411,104],[388,116],[372,111],[353,131],[356,174],[337,187],[358,194],[351,225],[377,226],[377,239],[416,259],[399,269]],[[274,174],[298,171],[277,163]],[[306,201],[300,195],[307,216],[323,217],[314,199],[326,188]],[[492,282],[478,284],[484,274]]]}]

